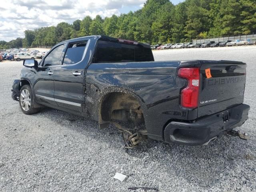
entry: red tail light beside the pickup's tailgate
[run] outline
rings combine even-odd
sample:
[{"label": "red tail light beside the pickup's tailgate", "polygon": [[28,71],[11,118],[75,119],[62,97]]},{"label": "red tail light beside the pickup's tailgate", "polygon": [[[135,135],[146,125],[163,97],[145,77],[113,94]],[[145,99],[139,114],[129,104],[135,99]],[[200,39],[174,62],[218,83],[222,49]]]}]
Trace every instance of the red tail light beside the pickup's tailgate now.
[{"label": "red tail light beside the pickup's tailgate", "polygon": [[197,108],[199,96],[199,68],[180,68],[178,76],[188,81],[186,88],[181,90],[180,104],[184,108]]}]

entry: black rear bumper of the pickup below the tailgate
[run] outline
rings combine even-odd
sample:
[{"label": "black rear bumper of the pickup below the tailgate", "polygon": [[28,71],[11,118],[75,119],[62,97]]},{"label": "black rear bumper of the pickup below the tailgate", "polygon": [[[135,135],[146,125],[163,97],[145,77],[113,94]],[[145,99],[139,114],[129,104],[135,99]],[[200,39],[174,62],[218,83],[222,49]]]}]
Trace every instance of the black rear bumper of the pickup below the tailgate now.
[{"label": "black rear bumper of the pickup below the tailgate", "polygon": [[[226,130],[231,130],[244,124],[248,119],[249,110],[250,106],[240,104],[193,123],[170,122],[164,129],[164,139],[166,142],[177,144],[205,144]],[[228,120],[224,120],[227,117]]]}]

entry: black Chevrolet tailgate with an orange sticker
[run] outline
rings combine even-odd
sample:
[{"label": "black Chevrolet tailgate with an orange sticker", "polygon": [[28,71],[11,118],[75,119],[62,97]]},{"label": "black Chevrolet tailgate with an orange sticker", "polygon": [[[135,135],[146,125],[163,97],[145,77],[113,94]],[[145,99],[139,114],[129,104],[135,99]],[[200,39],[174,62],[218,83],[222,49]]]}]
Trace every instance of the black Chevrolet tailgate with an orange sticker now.
[{"label": "black Chevrolet tailgate with an orange sticker", "polygon": [[227,110],[244,100],[246,64],[218,61],[200,67],[198,118]]}]

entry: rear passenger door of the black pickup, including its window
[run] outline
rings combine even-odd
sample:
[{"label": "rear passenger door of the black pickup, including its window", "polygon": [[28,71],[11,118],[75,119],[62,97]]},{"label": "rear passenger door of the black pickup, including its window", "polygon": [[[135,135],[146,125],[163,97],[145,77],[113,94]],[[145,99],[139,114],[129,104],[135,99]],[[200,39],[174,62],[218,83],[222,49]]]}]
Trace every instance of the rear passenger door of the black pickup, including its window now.
[{"label": "rear passenger door of the black pickup, including its window", "polygon": [[54,100],[58,106],[82,112],[84,58],[88,41],[70,42],[67,45],[62,66],[54,71]]}]

